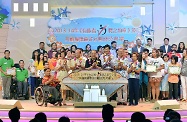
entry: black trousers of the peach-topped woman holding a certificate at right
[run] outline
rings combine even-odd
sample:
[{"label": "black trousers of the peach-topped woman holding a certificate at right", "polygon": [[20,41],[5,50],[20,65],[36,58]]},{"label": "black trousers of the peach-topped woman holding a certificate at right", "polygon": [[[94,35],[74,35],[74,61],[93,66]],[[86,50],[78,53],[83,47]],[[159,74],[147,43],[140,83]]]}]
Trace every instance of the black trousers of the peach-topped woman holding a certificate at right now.
[{"label": "black trousers of the peach-topped woman holding a certificate at right", "polygon": [[169,82],[169,99],[178,99],[178,83]]}]

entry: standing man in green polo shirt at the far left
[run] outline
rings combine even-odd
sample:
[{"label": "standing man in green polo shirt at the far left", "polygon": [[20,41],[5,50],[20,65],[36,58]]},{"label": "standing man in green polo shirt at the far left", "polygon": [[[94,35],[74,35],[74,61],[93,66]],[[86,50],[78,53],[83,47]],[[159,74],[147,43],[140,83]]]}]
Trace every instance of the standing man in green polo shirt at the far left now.
[{"label": "standing man in green polo shirt at the far left", "polygon": [[7,74],[7,69],[12,68],[14,66],[14,61],[10,58],[10,51],[5,50],[5,57],[0,59],[0,71],[3,83],[3,99],[9,99],[10,97],[10,85],[12,81],[12,76]]}]

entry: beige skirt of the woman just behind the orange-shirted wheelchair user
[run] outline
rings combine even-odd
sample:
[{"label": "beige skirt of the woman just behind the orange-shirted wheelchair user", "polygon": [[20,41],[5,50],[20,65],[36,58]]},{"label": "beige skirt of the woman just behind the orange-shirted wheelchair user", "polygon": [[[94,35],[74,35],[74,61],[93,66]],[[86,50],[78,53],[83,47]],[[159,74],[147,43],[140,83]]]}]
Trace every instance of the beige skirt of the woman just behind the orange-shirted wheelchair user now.
[{"label": "beige skirt of the woman just behind the orange-shirted wheelchair user", "polygon": [[59,80],[59,81],[61,81],[60,82],[60,85],[61,85],[61,89],[62,90],[69,90],[69,88],[66,86],[66,85],[64,85],[64,83],[63,83],[63,79],[65,78],[65,77],[67,77],[68,76],[68,72],[67,71],[58,71],[57,72],[57,79]]}]

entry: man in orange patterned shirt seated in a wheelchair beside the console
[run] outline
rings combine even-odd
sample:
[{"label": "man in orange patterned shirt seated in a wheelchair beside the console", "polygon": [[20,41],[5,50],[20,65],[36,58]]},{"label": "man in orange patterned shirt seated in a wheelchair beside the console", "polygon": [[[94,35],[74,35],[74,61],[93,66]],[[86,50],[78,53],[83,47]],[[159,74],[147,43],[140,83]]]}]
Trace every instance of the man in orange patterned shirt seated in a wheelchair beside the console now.
[{"label": "man in orange patterned shirt seated in a wheelchair beside the console", "polygon": [[55,88],[60,81],[51,75],[51,70],[49,68],[44,69],[45,76],[42,79],[42,84],[45,85],[44,91],[49,91],[55,100],[58,99],[59,93]]}]

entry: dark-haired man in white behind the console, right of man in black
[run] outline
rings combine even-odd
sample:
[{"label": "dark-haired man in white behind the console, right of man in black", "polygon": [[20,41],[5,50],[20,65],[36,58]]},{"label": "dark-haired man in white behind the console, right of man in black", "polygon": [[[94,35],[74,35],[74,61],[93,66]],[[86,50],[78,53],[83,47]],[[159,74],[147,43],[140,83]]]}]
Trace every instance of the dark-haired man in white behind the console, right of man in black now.
[{"label": "dark-haired man in white behind the console, right of man in black", "polygon": [[104,46],[104,54],[100,56],[101,65],[103,69],[113,70],[114,66],[114,56],[110,53],[110,45]]}]

